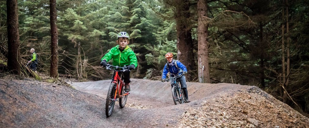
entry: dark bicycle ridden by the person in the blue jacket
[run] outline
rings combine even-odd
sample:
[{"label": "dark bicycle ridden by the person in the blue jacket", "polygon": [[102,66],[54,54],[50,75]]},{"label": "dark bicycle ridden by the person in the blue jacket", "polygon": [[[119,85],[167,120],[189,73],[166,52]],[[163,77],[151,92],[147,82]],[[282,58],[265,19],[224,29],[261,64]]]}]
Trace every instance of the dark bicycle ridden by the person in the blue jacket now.
[{"label": "dark bicycle ridden by the person in the blue jacket", "polygon": [[180,78],[182,76],[183,76],[183,74],[176,75],[175,77],[165,79],[166,82],[168,82],[170,80],[174,81],[174,83],[172,83],[171,86],[172,86],[172,96],[173,96],[173,100],[174,100],[175,105],[183,104],[183,103],[187,102],[186,98],[184,98],[184,91],[181,89],[180,84],[179,84],[179,80],[177,79],[177,78]]}]

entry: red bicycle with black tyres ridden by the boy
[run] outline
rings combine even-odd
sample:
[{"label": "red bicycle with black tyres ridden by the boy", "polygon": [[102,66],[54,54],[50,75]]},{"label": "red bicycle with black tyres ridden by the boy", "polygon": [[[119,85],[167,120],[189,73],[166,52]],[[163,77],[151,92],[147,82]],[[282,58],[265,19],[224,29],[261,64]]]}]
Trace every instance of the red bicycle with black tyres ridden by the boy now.
[{"label": "red bicycle with black tyres ridden by the boy", "polygon": [[[110,67],[113,67],[111,69]],[[106,104],[105,104],[105,114],[106,117],[110,117],[112,115],[115,102],[117,98],[119,98],[119,106],[120,108],[125,107],[125,103],[127,102],[129,92],[125,92],[125,82],[123,82],[123,71],[128,70],[126,66],[119,67],[119,66],[112,66],[108,64],[106,69],[113,70],[113,79],[111,85],[109,86]]]}]

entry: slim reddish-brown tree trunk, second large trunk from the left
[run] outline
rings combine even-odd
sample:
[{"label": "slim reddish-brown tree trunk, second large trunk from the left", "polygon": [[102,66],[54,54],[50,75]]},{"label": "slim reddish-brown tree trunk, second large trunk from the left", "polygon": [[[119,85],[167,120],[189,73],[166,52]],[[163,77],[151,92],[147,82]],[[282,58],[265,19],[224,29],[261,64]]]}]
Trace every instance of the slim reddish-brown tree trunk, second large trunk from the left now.
[{"label": "slim reddish-brown tree trunk, second large trunk from the left", "polygon": [[50,76],[58,77],[58,29],[57,29],[57,10],[56,0],[50,2],[50,32],[51,32],[51,61],[50,61]]}]

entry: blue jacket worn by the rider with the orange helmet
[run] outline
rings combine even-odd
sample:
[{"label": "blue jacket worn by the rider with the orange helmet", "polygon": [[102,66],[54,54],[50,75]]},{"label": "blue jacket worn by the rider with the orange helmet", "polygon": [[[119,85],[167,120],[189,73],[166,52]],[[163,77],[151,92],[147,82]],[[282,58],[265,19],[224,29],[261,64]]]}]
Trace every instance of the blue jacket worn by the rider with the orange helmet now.
[{"label": "blue jacket worn by the rider with the orange helmet", "polygon": [[[168,72],[171,73],[171,76],[172,76],[172,77],[175,76],[176,74],[178,74],[178,75],[181,74],[181,72],[179,72],[179,69],[177,69],[177,67],[176,67],[176,65],[175,65],[174,62],[177,63],[178,68],[179,68],[179,69],[182,69],[183,72],[188,72],[188,71],[187,71],[187,68],[186,68],[186,66],[184,66],[184,64],[182,64],[182,63],[179,62],[179,61],[174,61],[174,60],[173,60],[173,61],[172,61],[173,65],[169,66],[168,64],[166,64],[166,65],[164,66],[164,68],[163,68],[163,73],[162,73],[162,78],[161,78],[161,79],[165,79],[165,78],[166,78],[166,74],[167,74]],[[167,70],[166,66],[168,66],[168,70]]]}]

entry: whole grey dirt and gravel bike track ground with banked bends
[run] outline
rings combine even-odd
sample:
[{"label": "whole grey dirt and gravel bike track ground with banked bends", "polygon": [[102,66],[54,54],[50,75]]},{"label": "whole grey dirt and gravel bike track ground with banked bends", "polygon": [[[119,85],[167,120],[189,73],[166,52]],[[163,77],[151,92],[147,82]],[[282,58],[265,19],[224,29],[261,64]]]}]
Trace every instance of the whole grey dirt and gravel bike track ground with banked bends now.
[{"label": "whole grey dirt and gravel bike track ground with banked bends", "polygon": [[0,127],[309,127],[308,118],[256,86],[188,82],[174,105],[168,82],[131,79],[125,108],[106,118],[110,80],[68,86],[0,79]]}]

